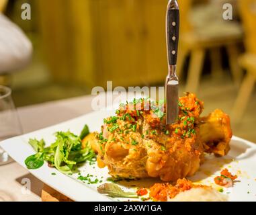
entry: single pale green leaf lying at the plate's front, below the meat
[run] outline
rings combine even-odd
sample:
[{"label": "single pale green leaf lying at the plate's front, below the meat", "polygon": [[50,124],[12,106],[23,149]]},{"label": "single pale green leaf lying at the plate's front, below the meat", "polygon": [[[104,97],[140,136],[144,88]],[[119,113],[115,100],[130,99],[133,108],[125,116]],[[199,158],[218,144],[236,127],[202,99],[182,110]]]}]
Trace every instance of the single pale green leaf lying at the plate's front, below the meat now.
[{"label": "single pale green leaf lying at the plate's front, below the meat", "polygon": [[97,187],[97,191],[102,194],[107,194],[112,198],[138,198],[137,193],[123,191],[115,183],[103,183],[103,185]]}]

